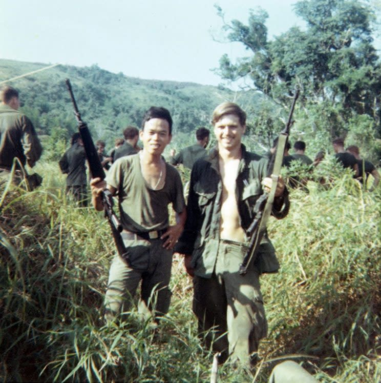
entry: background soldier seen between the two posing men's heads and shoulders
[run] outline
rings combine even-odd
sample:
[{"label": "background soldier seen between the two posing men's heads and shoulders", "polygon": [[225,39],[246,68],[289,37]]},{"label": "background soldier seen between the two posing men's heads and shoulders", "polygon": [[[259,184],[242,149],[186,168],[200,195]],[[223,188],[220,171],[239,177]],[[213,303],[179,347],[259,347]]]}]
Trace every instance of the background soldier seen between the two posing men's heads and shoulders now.
[{"label": "background soldier seen between the two posing men's heads and shoulders", "polygon": [[199,158],[204,158],[207,155],[206,147],[209,143],[210,132],[209,129],[201,127],[196,131],[197,143],[192,146],[188,146],[178,154],[175,149],[171,150],[170,164],[178,165],[183,164],[185,168],[191,169],[193,164]]}]

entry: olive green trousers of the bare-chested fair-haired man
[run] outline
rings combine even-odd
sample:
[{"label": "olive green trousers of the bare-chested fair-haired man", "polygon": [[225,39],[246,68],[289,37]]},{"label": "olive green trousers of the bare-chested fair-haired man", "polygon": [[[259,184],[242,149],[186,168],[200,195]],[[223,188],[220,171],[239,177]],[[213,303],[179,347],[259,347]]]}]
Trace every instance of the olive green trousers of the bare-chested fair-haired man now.
[{"label": "olive green trousers of the bare-chested fair-haired man", "polygon": [[259,340],[267,334],[267,321],[259,284],[259,272],[250,266],[239,274],[247,246],[220,240],[211,278],[194,277],[193,311],[206,346],[221,352],[219,360],[240,359],[250,365]]}]

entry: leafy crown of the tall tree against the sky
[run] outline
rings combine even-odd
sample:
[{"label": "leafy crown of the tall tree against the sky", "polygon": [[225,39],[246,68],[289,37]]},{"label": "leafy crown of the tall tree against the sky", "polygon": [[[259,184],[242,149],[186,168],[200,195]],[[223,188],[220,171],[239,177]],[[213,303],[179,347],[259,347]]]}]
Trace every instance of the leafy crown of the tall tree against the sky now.
[{"label": "leafy crown of the tall tree against the sky", "polygon": [[[294,7],[306,29],[292,27],[274,41],[268,41],[268,14],[260,8],[250,11],[247,25],[224,21],[228,41],[242,43],[250,55],[237,63],[224,55],[220,75],[230,80],[249,77],[253,88],[282,104],[298,86],[304,98],[341,102],[374,115],[380,69],[372,46],[370,6],[352,0],[303,0]],[[221,8],[218,13],[224,18]]]}]

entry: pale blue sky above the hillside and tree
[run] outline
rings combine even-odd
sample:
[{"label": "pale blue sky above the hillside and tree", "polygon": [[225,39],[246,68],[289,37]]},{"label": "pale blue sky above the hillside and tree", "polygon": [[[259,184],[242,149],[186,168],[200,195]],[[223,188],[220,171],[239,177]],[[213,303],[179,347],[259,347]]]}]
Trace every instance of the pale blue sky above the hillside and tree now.
[{"label": "pale blue sky above the hillside and tree", "polygon": [[221,44],[221,18],[246,23],[250,8],[269,14],[269,37],[302,21],[295,0],[1,0],[0,57],[91,66],[146,79],[218,85],[219,58],[247,54]]}]

